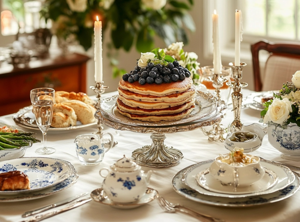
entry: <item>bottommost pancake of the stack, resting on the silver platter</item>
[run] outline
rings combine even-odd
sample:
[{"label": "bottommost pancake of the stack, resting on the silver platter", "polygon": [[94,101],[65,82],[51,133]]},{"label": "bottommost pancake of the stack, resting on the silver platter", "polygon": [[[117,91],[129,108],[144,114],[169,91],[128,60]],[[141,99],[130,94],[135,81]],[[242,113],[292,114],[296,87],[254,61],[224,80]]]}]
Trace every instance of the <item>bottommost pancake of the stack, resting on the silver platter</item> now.
[{"label": "bottommost pancake of the stack, resting on the silver platter", "polygon": [[191,106],[188,109],[184,109],[184,111],[182,111],[180,113],[173,113],[173,114],[139,115],[139,114],[124,112],[124,111],[120,110],[119,107],[117,107],[119,113],[121,113],[124,116],[127,116],[131,119],[137,119],[140,121],[149,121],[149,122],[158,122],[161,120],[179,120],[179,119],[182,119],[182,118],[190,115],[190,113],[193,111],[194,108],[195,108],[195,106]]}]

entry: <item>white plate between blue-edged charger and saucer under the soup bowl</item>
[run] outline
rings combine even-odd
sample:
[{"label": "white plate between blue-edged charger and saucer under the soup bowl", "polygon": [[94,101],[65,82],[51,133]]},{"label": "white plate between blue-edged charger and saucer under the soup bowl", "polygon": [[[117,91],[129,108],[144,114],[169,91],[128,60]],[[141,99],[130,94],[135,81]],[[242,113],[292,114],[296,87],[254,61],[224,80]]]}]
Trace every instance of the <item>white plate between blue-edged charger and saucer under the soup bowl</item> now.
[{"label": "white plate between blue-edged charger and saucer under the soup bowl", "polygon": [[254,190],[251,193],[244,193],[244,194],[217,193],[210,190],[206,190],[203,187],[200,187],[196,183],[196,175],[200,171],[209,168],[213,161],[214,160],[211,159],[211,160],[199,162],[187,168],[183,173],[183,178],[182,178],[183,183],[185,183],[188,187],[192,188],[193,190],[196,190],[197,192],[208,196],[237,198],[237,197],[251,197],[251,196],[273,193],[277,190],[282,190],[283,188],[287,187],[295,180],[295,174],[293,174],[289,168],[265,159],[261,159],[260,160],[261,165],[265,168],[274,171],[274,173],[278,177],[278,182],[273,187],[271,187],[268,190],[263,190],[263,191]]}]

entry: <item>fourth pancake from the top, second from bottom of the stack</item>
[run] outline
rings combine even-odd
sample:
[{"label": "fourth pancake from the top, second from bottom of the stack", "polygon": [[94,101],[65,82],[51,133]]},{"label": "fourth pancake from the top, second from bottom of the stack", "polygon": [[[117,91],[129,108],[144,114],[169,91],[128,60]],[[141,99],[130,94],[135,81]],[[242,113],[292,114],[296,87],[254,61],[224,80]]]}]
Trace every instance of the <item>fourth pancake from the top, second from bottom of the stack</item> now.
[{"label": "fourth pancake from the top, second from bottom of the stack", "polygon": [[133,113],[133,114],[146,114],[146,115],[162,115],[162,114],[172,114],[172,113],[180,113],[184,111],[184,109],[188,109],[191,106],[195,105],[194,100],[190,100],[187,103],[184,103],[179,106],[173,106],[165,109],[141,109],[139,107],[131,107],[125,105],[120,99],[117,100],[118,107],[123,112]]}]

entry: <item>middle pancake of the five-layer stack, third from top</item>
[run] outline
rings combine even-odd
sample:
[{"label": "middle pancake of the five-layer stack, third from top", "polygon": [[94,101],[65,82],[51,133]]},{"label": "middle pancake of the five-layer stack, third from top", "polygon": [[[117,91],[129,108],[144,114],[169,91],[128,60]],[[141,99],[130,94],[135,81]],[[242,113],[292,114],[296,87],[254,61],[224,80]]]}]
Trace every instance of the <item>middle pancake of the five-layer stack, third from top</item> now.
[{"label": "middle pancake of the five-layer stack, third from top", "polygon": [[131,107],[140,107],[142,109],[164,109],[169,108],[173,106],[179,106],[182,105],[190,100],[192,100],[194,95],[191,95],[190,97],[186,98],[182,101],[177,101],[174,103],[166,103],[166,102],[144,102],[144,101],[137,101],[132,99],[126,99],[122,95],[119,94],[119,99],[122,100],[122,102]]}]

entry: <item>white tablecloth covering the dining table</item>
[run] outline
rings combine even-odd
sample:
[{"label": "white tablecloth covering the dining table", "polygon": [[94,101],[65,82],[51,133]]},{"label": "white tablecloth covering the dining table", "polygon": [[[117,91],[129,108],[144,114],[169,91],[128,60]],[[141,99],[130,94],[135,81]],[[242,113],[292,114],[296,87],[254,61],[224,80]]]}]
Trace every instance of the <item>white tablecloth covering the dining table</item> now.
[{"label": "white tablecloth covering the dining table", "polygon": [[[243,90],[244,95],[250,93],[248,90]],[[112,95],[106,94],[106,96]],[[231,112],[232,105],[229,105],[228,111],[222,120],[226,126],[233,120],[233,113]],[[0,122],[9,125],[15,125],[11,119],[12,115],[0,117]],[[258,122],[260,112],[243,108],[241,112],[241,121],[245,125]],[[18,127],[20,128],[20,127]],[[28,129],[23,129],[30,131]],[[72,187],[63,190],[54,195],[26,201],[26,202],[0,202],[0,221],[22,221],[21,214],[25,211],[38,208],[43,205],[49,205],[58,200],[65,199],[82,192],[91,192],[99,188],[102,181],[99,170],[102,167],[109,167],[117,159],[120,159],[124,154],[128,157],[131,156],[133,150],[140,148],[144,145],[151,144],[150,134],[140,134],[130,131],[116,131],[115,129],[104,126],[104,131],[113,133],[115,139],[119,142],[109,152],[105,154],[104,161],[99,165],[84,166],[80,164],[75,152],[74,139],[79,134],[91,133],[96,131],[96,126],[82,128],[77,130],[70,130],[64,132],[49,131],[47,135],[47,145],[54,147],[56,152],[47,155],[46,157],[64,159],[73,164],[79,174],[77,183]],[[42,140],[40,131],[35,131],[37,137]],[[152,174],[149,187],[156,189],[159,194],[173,203],[180,203],[195,211],[210,214],[214,217],[222,218],[228,222],[240,221],[300,221],[300,193],[297,192],[292,197],[283,201],[259,205],[255,207],[217,207],[211,205],[204,205],[177,194],[172,187],[173,176],[181,169],[192,165],[194,163],[214,159],[220,153],[227,153],[223,143],[209,141],[202,131],[194,130],[190,132],[180,132],[176,134],[166,134],[165,144],[173,146],[182,151],[184,158],[181,163],[174,167],[169,168],[155,168],[155,173]],[[35,153],[35,150],[42,144],[34,144],[31,148],[27,149],[25,157],[40,156]],[[275,160],[278,162],[285,162],[291,165],[300,166],[300,162],[287,161],[280,157],[279,151],[275,150],[267,140],[264,138],[262,146],[252,153],[253,155],[261,156],[265,159]],[[150,170],[151,168],[143,167],[143,170]],[[61,207],[59,207],[61,208]],[[58,209],[59,209],[58,208]],[[198,221],[193,217],[185,214],[176,213],[170,214],[164,212],[158,205],[157,200],[143,205],[139,208],[123,210],[112,208],[107,205],[102,205],[98,202],[91,201],[79,208],[58,214],[54,217],[48,218],[45,221],[55,222],[82,222],[82,221]]]}]

